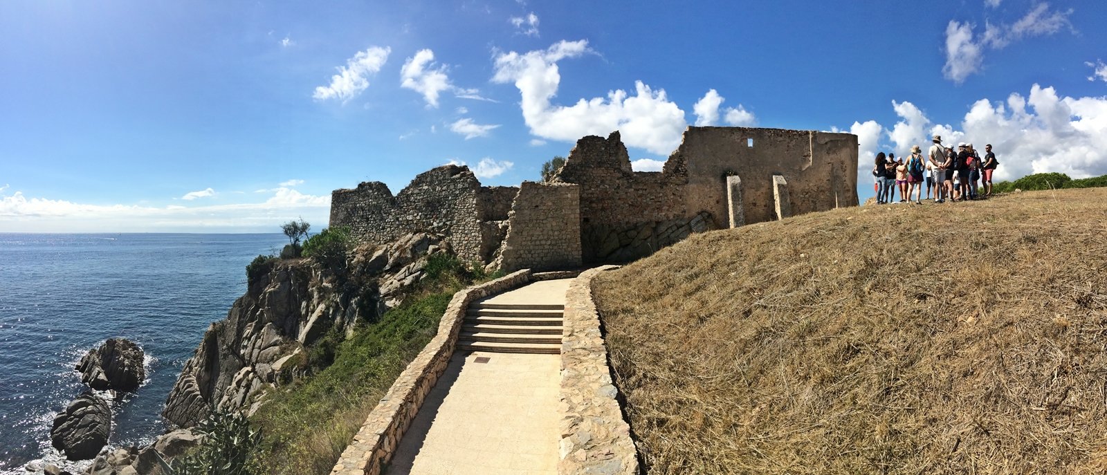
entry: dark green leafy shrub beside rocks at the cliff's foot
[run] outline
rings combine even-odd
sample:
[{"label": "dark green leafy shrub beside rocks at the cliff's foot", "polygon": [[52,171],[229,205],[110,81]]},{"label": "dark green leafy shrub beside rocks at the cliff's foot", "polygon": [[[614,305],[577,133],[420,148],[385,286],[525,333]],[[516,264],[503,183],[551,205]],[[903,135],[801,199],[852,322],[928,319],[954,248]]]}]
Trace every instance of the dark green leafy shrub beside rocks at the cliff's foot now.
[{"label": "dark green leafy shrub beside rocks at the cliff's foot", "polygon": [[193,427],[193,432],[204,434],[204,440],[196,450],[173,462],[172,475],[248,475],[254,472],[261,434],[250,428],[245,415],[216,411]]}]

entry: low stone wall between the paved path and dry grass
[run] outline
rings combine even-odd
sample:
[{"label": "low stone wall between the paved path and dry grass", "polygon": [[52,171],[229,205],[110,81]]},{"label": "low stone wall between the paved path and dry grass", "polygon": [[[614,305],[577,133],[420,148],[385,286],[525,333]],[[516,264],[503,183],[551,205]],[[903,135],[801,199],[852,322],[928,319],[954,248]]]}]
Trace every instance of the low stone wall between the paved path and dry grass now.
[{"label": "low stone wall between the paved path and dry grass", "polygon": [[615,399],[608,350],[592,301],[592,278],[618,266],[589,269],[566,292],[561,342],[558,474],[635,475],[638,454]]}]

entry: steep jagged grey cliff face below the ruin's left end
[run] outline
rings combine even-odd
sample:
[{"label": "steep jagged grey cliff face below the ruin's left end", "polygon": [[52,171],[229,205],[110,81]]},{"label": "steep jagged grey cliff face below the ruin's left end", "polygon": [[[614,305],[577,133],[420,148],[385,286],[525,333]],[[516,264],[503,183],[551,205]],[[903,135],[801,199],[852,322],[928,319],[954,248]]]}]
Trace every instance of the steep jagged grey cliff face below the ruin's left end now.
[{"label": "steep jagged grey cliff face below the ruin's left end", "polygon": [[307,259],[276,264],[251,280],[226,319],[208,327],[162,414],[192,427],[210,407],[252,413],[268,384],[304,371],[297,362],[306,359],[291,357],[330,331],[350,334],[359,319],[397,304],[405,288],[425,276],[426,256],[449,249],[442,236],[405,235],[355,251],[341,278]]}]

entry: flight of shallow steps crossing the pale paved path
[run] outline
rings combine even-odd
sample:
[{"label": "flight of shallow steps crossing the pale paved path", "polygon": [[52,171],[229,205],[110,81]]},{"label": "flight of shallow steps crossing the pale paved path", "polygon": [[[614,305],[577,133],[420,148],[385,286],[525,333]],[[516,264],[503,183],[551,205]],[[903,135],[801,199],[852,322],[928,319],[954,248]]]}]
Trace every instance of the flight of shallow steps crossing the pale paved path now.
[{"label": "flight of shallow steps crossing the pale paved path", "polygon": [[475,303],[457,337],[461,351],[561,353],[561,304]]}]

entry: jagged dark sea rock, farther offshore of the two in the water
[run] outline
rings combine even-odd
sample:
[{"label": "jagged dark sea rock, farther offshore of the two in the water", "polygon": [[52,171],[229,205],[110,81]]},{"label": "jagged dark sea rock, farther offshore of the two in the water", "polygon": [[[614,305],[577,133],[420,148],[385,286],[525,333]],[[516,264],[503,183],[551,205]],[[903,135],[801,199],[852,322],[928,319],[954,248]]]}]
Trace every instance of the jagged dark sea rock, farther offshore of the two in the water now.
[{"label": "jagged dark sea rock, farther offshore of the two in the water", "polygon": [[94,390],[132,392],[146,379],[142,363],[143,351],[135,342],[110,338],[100,348],[90,350],[76,370],[81,372],[81,381]]}]

